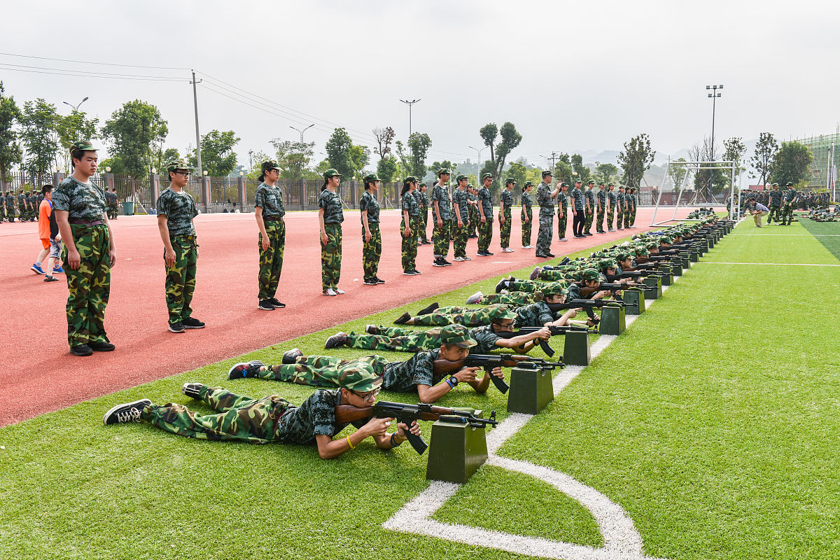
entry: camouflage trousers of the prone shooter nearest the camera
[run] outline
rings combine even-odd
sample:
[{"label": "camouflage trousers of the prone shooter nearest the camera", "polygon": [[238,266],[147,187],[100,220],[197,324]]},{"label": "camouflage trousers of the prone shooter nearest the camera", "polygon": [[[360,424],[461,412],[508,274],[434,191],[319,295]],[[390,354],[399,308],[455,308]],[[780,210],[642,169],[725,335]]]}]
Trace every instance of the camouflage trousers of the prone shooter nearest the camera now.
[{"label": "camouflage trousers of the prone shooter nearest the camera", "polygon": [[277,419],[291,403],[279,395],[252,399],[202,385],[199,400],[218,414],[198,414],[184,405],[169,403],[146,406],[140,417],[176,436],[195,437],[212,441],[269,443],[275,440]]}]

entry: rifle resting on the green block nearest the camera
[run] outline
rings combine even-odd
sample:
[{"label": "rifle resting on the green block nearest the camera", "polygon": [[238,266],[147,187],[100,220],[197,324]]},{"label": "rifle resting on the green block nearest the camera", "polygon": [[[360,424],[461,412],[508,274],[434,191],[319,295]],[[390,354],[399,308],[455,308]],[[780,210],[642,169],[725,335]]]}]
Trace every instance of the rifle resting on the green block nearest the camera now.
[{"label": "rifle resting on the green block nearest the camera", "polygon": [[[485,419],[473,416],[471,412],[456,411],[454,408],[444,408],[443,406],[432,406],[423,403],[419,405],[406,405],[402,402],[380,400],[374,406],[367,406],[365,408],[351,405],[339,405],[335,407],[335,421],[338,424],[346,424],[370,417],[396,418],[396,421],[404,422],[406,426],[411,426],[412,421],[416,420],[443,420],[456,424],[469,424],[470,427],[474,428],[484,428],[488,424],[496,426],[499,423],[496,421],[496,411],[492,411],[490,418]],[[422,455],[426,451],[428,444],[423,441],[423,437],[415,436],[408,431],[406,431],[406,436],[408,437],[408,442],[412,444],[412,447],[414,447],[417,453]]]}]

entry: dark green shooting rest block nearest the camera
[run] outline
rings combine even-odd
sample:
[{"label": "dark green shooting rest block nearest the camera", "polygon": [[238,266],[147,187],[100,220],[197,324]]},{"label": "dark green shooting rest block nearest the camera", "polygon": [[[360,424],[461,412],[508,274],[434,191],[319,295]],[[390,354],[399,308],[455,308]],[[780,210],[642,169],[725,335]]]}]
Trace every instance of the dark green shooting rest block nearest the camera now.
[{"label": "dark green shooting rest block nearest the camera", "polygon": [[[473,414],[484,417],[481,411]],[[440,420],[434,422],[432,441],[428,446],[426,479],[464,484],[486,460],[485,428]]]}]

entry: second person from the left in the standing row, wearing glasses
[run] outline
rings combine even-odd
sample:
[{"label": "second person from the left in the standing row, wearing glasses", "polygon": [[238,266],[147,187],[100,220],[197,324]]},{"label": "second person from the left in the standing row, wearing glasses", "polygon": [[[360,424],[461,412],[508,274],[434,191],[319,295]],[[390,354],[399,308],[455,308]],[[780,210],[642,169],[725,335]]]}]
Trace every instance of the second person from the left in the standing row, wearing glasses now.
[{"label": "second person from the left in the standing row, wearing glasses", "polygon": [[186,161],[166,165],[169,188],[160,193],[157,204],[158,230],[163,241],[166,270],[164,281],[166,308],[169,310],[169,331],[186,332],[188,328],[204,328],[192,317],[192,293],[196,289],[198,243],[192,218],[198,215],[196,202],[184,191],[192,168]]}]

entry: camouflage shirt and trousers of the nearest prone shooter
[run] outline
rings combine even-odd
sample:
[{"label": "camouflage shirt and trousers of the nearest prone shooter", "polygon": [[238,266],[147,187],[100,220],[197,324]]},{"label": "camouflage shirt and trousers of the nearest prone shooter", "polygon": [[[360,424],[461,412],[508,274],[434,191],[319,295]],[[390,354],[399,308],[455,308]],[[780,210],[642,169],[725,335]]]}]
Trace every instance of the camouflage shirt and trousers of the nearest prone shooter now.
[{"label": "camouflage shirt and trousers of the nearest prone shooter", "polygon": [[[279,395],[251,399],[207,385],[201,386],[198,395],[218,414],[197,414],[170,403],[146,406],[140,417],[178,436],[246,443],[312,444],[316,435],[333,437],[348,426],[335,421],[341,390],[317,390],[301,406],[293,406]],[[367,421],[353,425],[362,427]]]}]

